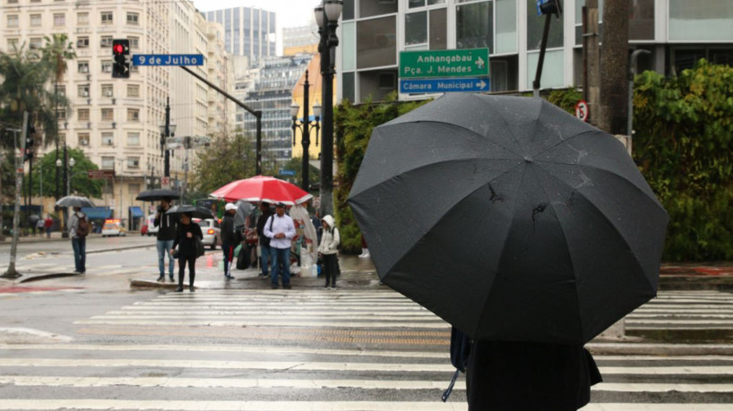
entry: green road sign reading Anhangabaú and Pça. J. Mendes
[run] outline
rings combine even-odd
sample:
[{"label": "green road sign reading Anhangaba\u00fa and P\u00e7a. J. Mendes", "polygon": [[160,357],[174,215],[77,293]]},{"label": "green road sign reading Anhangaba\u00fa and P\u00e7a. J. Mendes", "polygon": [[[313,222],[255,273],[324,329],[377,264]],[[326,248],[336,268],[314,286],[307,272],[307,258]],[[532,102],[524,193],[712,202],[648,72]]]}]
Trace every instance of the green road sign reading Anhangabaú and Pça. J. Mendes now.
[{"label": "green road sign reading Anhangaba\u00fa and P\u00e7a. J. Mendes", "polygon": [[400,53],[400,77],[486,77],[488,48],[419,50]]}]

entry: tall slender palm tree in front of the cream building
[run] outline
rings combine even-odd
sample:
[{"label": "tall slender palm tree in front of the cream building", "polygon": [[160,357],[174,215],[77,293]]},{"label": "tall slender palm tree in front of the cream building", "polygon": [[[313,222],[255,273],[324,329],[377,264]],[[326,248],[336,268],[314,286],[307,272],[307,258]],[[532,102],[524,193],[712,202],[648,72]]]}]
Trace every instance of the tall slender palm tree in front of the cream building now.
[{"label": "tall slender palm tree in front of the cream building", "polygon": [[[66,60],[73,60],[76,58],[76,53],[73,50],[73,43],[68,41],[65,34],[54,34],[52,38],[45,37],[46,47],[43,49],[43,59],[51,67],[54,75],[54,117],[55,120],[51,128],[47,129],[47,135],[53,135],[54,141],[56,141],[56,160],[58,159],[58,106],[59,103],[63,103],[63,106],[68,112],[69,101],[64,98],[64,101],[60,101],[58,95],[58,82],[61,81],[68,69]],[[50,124],[49,124],[50,125]],[[56,176],[56,200],[58,200],[58,176]]]}]

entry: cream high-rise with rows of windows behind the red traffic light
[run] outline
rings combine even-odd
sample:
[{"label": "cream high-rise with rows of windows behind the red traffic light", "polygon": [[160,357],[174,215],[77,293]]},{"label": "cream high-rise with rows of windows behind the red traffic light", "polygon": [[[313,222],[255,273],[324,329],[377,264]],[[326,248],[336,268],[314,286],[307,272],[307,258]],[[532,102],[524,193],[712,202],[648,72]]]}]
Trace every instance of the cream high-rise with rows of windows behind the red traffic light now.
[{"label": "cream high-rise with rows of windows behind the red traffic light", "polygon": [[[160,124],[170,98],[177,135],[210,133],[208,88],[178,67],[133,66],[129,79],[112,78],[112,40],[129,39],[131,54],[203,54],[206,22],[193,4],[183,2],[77,2],[11,0],[0,16],[0,51],[27,44],[45,46],[44,37],[65,34],[76,59],[58,90],[72,106],[59,110],[59,140],[79,148],[102,169],[115,171],[95,203],[113,209],[127,227],[138,227],[146,204],[135,201],[163,176]],[[206,78],[207,66],[195,69]],[[47,147],[40,155],[56,150]],[[171,158],[171,180],[184,176],[184,153]],[[72,170],[73,172],[73,170]],[[148,182],[151,183],[148,183]],[[73,187],[72,187],[73,191]],[[60,187],[65,195],[65,187]],[[34,200],[36,203],[39,199]],[[50,197],[45,209],[52,210]],[[149,203],[147,205],[150,205]],[[133,224],[130,224],[130,223]]]}]

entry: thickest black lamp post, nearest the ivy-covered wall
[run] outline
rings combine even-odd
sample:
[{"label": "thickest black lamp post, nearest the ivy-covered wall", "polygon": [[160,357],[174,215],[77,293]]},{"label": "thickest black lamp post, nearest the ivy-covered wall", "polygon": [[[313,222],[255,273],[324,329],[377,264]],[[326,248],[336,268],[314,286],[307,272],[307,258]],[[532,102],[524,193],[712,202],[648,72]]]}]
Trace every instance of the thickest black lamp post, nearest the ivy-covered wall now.
[{"label": "thickest black lamp post, nearest the ivy-covered wall", "polygon": [[323,143],[321,145],[321,215],[333,214],[333,74],[336,73],[336,28],[343,8],[342,0],[323,0],[315,7],[315,21],[321,41],[321,75],[323,75]]}]

